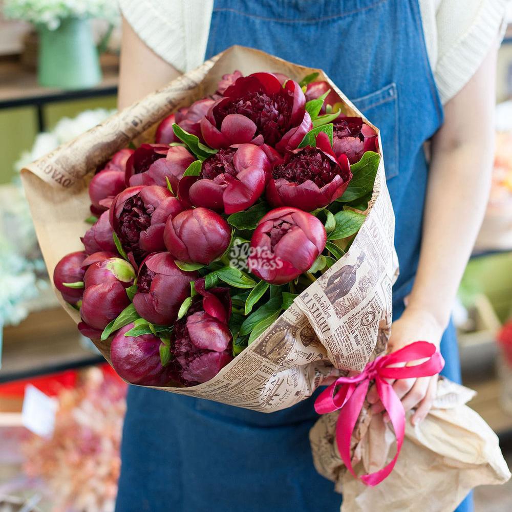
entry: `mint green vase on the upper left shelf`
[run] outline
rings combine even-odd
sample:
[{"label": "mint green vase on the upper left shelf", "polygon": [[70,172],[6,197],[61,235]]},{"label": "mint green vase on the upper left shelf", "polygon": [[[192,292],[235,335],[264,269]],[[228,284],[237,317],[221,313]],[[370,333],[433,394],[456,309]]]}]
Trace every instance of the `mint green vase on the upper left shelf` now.
[{"label": "mint green vase on the upper left shelf", "polygon": [[63,19],[56,30],[39,26],[38,81],[43,87],[87,89],[101,81],[89,19]]}]

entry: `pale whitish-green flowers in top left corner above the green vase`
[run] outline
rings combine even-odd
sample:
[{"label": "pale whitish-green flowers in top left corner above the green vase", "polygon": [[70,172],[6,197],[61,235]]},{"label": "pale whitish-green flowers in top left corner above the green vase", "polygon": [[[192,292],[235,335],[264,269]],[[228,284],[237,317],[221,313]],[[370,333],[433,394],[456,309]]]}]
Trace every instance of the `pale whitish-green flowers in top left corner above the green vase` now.
[{"label": "pale whitish-green flowers in top left corner above the green vase", "polygon": [[62,19],[101,18],[119,24],[115,0],[4,0],[6,18],[22,19],[50,30],[59,27]]}]

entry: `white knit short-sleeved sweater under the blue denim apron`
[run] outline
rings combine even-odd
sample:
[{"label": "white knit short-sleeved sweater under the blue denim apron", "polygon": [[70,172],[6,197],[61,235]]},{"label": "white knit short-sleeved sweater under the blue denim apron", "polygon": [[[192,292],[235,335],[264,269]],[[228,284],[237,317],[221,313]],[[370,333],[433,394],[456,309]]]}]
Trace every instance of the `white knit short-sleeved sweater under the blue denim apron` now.
[{"label": "white knit short-sleeved sweater under the blue denim apron", "polygon": [[[180,71],[204,60],[213,0],[119,0],[139,37]],[[508,0],[419,0],[426,49],[444,103],[476,72]],[[503,33],[503,32],[502,32]]]}]

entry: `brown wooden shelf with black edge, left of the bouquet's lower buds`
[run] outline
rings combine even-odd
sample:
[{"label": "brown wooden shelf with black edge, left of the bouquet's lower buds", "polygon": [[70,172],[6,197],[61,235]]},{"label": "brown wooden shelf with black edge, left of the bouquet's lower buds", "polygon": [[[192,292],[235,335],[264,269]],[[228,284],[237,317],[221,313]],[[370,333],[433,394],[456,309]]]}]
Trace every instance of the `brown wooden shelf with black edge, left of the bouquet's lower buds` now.
[{"label": "brown wooden shelf with black edge, left of the bouquet's lower buds", "polygon": [[18,326],[4,329],[0,383],[104,362],[82,339],[60,306],[31,313]]}]

